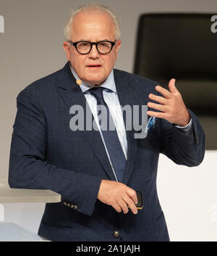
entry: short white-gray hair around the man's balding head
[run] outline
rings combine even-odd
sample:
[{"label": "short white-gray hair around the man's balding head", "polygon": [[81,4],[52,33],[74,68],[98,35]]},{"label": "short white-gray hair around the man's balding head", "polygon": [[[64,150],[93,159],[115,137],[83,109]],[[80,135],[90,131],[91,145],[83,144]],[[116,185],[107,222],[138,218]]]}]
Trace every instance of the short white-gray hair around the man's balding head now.
[{"label": "short white-gray hair around the man's balding head", "polygon": [[66,40],[70,39],[71,28],[72,28],[71,25],[72,25],[72,22],[75,18],[75,15],[77,15],[78,12],[82,12],[82,11],[85,11],[85,12],[100,12],[100,13],[106,12],[108,15],[110,15],[111,19],[114,22],[116,40],[120,39],[120,37],[121,37],[121,28],[120,28],[120,25],[119,25],[119,20],[116,17],[116,15],[114,15],[114,12],[110,8],[105,7],[103,5],[100,5],[100,4],[85,4],[85,5],[82,5],[81,7],[77,8],[77,9],[72,9],[72,12],[70,12],[69,20],[67,21],[66,26],[64,28],[64,36],[65,36]]}]

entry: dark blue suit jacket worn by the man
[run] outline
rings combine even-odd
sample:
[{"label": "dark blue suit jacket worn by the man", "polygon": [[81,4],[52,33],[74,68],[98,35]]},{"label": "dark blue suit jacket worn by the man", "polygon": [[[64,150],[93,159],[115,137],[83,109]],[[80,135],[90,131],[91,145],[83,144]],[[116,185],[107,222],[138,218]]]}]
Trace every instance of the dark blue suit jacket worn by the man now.
[{"label": "dark blue suit jacket worn by the man", "polygon": [[[145,105],[148,94],[156,94],[156,82],[147,78],[114,70],[114,79],[122,106]],[[158,157],[166,154],[178,165],[202,162],[205,139],[197,117],[190,112],[191,134],[158,118],[145,139],[127,131],[123,183],[142,191],[144,207],[137,215],[131,210],[124,215],[97,199],[101,180],[115,178],[100,133],[70,130],[69,108],[75,104],[86,110],[68,63],[17,96],[9,186],[61,194],[61,202],[46,204],[38,234],[52,241],[169,241],[156,191]]]}]

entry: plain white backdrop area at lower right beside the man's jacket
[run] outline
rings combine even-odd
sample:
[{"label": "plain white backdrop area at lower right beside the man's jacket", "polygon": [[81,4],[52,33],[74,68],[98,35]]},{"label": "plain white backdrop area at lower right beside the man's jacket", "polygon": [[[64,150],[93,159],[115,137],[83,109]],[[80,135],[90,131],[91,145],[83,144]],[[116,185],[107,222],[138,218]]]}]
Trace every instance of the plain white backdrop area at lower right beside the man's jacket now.
[{"label": "plain white backdrop area at lower right beside the man's jacket", "polygon": [[173,241],[217,241],[217,151],[201,165],[176,165],[161,155],[158,197]]}]

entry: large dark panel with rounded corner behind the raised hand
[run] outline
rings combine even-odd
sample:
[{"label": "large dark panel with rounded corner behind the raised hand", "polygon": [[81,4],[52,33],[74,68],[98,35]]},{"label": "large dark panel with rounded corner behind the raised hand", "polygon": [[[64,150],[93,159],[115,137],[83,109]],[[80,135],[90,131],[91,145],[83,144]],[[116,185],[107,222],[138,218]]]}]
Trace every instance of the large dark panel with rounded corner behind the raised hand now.
[{"label": "large dark panel with rounded corner behind the raised hand", "polygon": [[176,78],[184,103],[203,125],[206,149],[217,149],[217,33],[210,29],[212,16],[141,15],[135,55],[136,74],[165,88]]}]

